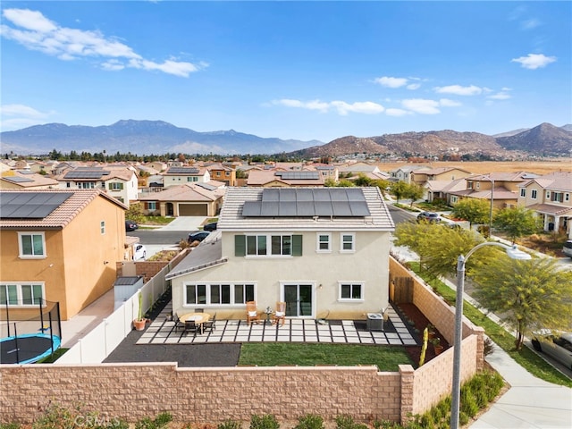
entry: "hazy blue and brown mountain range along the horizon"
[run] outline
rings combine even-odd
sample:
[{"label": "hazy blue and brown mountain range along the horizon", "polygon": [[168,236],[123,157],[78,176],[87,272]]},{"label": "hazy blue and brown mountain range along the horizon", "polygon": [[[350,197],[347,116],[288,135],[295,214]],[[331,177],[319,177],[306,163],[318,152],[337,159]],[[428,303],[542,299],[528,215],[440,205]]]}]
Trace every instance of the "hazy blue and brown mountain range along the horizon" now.
[{"label": "hazy blue and brown mountain range along the horizon", "polygon": [[532,129],[507,131],[494,136],[454,130],[403,132],[360,138],[319,140],[261,138],[235,130],[199,132],[163,121],[124,120],[89,127],[47,123],[0,133],[2,153],[47,154],[115,152],[137,155],[182,154],[286,154],[304,158],[351,154],[392,156],[443,156],[484,154],[492,157],[572,156],[572,124],[556,127],[542,123]]}]

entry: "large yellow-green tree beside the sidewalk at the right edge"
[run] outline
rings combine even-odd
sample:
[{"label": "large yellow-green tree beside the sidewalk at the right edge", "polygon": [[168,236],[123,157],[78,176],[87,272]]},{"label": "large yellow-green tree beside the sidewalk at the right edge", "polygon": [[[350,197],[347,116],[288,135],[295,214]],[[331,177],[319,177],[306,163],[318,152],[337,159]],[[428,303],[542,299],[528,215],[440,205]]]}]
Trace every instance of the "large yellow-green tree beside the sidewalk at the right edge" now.
[{"label": "large yellow-green tree beside the sidewalk at the right edge", "polygon": [[497,253],[470,274],[477,283],[475,298],[517,332],[516,349],[534,330],[569,331],[572,272],[550,257],[522,261]]}]

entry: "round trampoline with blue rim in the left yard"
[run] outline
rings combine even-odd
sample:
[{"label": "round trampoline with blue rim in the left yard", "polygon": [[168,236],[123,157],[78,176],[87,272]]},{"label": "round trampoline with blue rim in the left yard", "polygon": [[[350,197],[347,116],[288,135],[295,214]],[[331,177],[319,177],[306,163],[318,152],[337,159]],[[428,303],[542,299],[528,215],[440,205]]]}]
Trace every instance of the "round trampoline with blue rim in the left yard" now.
[{"label": "round trampoline with blue rim in the left yard", "polygon": [[32,364],[59,349],[60,337],[46,333],[24,333],[0,339],[0,364]]}]

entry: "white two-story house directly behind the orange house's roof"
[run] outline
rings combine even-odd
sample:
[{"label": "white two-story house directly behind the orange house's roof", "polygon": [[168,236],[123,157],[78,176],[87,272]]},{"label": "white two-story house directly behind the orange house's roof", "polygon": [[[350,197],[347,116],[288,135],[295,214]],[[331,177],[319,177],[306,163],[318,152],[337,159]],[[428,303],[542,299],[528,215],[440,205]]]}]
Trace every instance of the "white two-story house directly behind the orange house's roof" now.
[{"label": "white two-story house directly behind the orange house's roof", "polygon": [[129,207],[138,199],[138,178],[132,167],[77,167],[57,176],[60,189],[102,189]]}]

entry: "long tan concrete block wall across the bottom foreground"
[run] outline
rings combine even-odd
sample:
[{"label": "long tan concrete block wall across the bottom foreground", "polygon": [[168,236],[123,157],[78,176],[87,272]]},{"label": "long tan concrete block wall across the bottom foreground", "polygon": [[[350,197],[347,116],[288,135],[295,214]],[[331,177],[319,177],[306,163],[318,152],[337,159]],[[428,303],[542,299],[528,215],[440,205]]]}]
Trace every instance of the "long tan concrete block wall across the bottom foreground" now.
[{"label": "long tan concrete block wall across the bottom foreground", "polygon": [[[409,377],[413,368],[408,366]],[[217,423],[252,414],[400,420],[400,373],[374,366],[177,368],[174,364],[2,366],[1,421],[29,424],[49,400],[135,421],[168,411]]]}]

